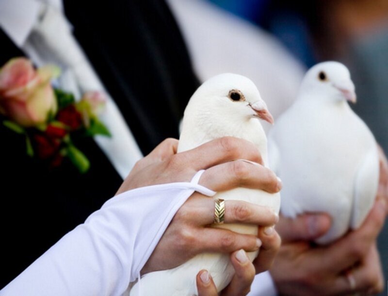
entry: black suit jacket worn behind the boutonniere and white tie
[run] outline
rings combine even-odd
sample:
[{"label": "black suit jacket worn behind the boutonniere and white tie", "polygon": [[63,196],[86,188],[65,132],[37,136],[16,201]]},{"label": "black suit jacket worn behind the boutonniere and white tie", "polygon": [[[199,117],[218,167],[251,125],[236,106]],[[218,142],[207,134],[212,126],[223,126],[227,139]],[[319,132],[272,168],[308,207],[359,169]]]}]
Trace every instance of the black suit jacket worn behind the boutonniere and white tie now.
[{"label": "black suit jacket worn behind the boutonniere and white tie", "polygon": [[[178,122],[198,86],[178,26],[161,0],[65,0],[74,34],[144,154]],[[117,35],[119,37],[117,37]],[[22,53],[0,32],[0,62]],[[91,162],[49,170],[26,156],[23,136],[0,128],[0,287],[112,197],[122,180],[92,139],[76,145]],[[21,249],[21,252],[19,251]]]}]

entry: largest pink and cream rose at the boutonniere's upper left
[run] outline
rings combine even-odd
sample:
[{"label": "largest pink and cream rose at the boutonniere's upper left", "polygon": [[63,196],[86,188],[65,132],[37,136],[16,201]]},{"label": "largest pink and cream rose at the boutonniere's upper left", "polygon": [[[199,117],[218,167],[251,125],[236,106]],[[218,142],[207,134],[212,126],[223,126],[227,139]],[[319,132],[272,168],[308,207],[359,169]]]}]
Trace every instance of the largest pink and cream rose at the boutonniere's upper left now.
[{"label": "largest pink and cream rose at the boutonniere's upper left", "polygon": [[0,69],[0,113],[25,127],[45,123],[57,112],[50,80],[58,75],[58,67],[35,70],[26,58],[11,59]]}]

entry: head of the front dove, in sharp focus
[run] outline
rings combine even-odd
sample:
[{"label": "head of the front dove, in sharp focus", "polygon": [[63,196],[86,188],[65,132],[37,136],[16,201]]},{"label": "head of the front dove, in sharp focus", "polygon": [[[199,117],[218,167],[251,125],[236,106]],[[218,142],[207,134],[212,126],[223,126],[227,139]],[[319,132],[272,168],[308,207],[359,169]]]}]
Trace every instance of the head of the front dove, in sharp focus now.
[{"label": "head of the front dove, in sharp focus", "polygon": [[190,99],[199,112],[224,116],[226,120],[259,118],[274,123],[256,85],[248,78],[231,73],[214,76],[204,82]]}]

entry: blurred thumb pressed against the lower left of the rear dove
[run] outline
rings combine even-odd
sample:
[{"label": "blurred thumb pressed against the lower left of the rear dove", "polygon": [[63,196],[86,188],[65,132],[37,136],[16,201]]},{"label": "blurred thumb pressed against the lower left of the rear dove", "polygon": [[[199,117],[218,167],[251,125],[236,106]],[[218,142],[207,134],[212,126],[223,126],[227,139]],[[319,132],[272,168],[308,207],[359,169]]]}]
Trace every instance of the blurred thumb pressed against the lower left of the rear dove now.
[{"label": "blurred thumb pressed against the lower left of the rear dove", "polygon": [[302,214],[295,219],[280,215],[275,228],[282,242],[311,241],[329,230],[331,219],[327,214]]}]

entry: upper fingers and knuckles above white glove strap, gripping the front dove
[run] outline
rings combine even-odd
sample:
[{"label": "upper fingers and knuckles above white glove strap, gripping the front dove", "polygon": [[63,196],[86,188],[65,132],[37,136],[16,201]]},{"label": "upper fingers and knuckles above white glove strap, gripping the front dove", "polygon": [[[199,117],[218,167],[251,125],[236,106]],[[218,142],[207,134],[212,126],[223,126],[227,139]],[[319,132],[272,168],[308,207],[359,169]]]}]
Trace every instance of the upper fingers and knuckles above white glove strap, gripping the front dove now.
[{"label": "upper fingers and knuckles above white glove strap, gripping the front dove", "polygon": [[177,153],[177,149],[177,139],[164,140],[135,164],[116,194],[149,185],[190,181],[201,169],[206,169],[201,185],[214,191],[238,186],[268,192],[280,190],[280,182],[271,170],[261,165],[252,169],[252,164],[239,161],[263,164],[259,150],[246,140],[223,137],[192,150]]}]

